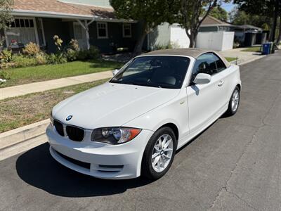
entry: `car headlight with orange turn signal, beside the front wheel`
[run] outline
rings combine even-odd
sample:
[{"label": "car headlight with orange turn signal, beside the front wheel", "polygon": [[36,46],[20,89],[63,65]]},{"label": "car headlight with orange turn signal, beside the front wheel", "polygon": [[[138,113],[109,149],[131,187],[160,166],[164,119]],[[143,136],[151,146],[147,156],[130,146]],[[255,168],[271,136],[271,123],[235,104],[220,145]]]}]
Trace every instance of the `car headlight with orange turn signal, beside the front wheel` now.
[{"label": "car headlight with orange turn signal, beside the front wheel", "polygon": [[91,141],[98,141],[110,144],[126,143],[140,134],[141,129],[131,127],[104,127],[94,129]]}]

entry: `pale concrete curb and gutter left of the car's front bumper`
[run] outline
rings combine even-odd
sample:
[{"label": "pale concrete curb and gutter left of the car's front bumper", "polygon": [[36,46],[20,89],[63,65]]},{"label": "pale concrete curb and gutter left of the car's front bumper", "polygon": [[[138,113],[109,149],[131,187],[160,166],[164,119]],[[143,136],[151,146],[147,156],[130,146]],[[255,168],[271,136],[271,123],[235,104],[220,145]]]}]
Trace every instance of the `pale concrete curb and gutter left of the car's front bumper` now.
[{"label": "pale concrete curb and gutter left of the car's front bumper", "polygon": [[[49,123],[49,119],[43,120],[41,122],[36,122],[34,124],[29,124],[24,127],[1,133],[0,160],[27,150],[28,148],[25,145],[29,146],[30,141],[32,143],[36,143],[37,141],[42,143],[45,136],[46,127]],[[44,142],[46,142],[46,139]],[[34,144],[32,146],[34,146]]]}]

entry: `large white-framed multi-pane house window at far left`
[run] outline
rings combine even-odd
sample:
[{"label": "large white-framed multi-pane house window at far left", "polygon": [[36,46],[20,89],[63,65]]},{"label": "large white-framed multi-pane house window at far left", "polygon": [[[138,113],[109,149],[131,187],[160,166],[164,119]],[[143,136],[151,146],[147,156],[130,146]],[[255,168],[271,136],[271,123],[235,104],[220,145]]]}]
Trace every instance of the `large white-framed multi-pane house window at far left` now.
[{"label": "large white-framed multi-pane house window at far left", "polygon": [[37,28],[33,18],[15,18],[11,27],[6,30],[7,44],[25,45],[30,42],[38,44]]}]

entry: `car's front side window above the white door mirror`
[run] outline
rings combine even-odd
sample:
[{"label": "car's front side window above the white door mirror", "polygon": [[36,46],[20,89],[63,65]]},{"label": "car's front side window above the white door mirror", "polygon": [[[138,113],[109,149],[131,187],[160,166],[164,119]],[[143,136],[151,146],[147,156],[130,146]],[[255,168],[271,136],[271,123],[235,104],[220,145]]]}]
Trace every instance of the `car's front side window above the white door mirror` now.
[{"label": "car's front side window above the white door mirror", "polygon": [[192,79],[195,79],[198,73],[207,73],[214,75],[217,72],[216,58],[213,53],[205,53],[198,57],[192,70]]}]

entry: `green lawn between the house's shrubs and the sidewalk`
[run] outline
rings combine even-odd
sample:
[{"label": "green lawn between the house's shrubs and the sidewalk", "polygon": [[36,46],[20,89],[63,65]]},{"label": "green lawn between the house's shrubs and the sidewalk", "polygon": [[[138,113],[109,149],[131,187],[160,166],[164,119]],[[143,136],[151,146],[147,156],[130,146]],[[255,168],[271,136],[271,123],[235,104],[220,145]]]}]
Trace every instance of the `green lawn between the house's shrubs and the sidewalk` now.
[{"label": "green lawn between the house's shrubs and the sidewalk", "polygon": [[32,82],[41,82],[75,75],[84,75],[93,72],[103,72],[121,68],[122,63],[105,60],[74,61],[60,65],[40,65],[29,68],[15,68],[6,71],[11,79],[6,83],[0,84],[2,87],[11,87]]}]

